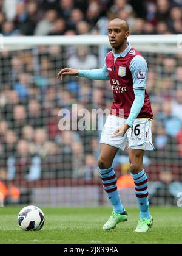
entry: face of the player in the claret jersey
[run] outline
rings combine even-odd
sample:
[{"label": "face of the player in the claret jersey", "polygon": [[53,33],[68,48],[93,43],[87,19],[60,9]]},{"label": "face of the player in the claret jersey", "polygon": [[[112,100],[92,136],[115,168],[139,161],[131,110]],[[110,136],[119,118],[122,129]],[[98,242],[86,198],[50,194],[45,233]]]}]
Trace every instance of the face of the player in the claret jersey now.
[{"label": "face of the player in the claret jersey", "polygon": [[123,26],[116,26],[115,24],[110,24],[110,26],[108,27],[108,37],[112,48],[120,49],[127,38],[126,29],[124,29]]}]

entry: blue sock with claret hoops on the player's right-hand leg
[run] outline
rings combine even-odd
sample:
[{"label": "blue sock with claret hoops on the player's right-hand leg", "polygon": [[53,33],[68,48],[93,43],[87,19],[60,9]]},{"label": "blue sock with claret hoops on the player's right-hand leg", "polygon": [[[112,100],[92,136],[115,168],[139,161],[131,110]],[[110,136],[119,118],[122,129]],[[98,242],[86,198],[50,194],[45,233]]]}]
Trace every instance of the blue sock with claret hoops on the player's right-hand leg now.
[{"label": "blue sock with claret hoops on the player's right-hand leg", "polygon": [[140,218],[150,219],[148,183],[144,169],[138,174],[132,174],[135,183],[135,193],[140,208]]}]

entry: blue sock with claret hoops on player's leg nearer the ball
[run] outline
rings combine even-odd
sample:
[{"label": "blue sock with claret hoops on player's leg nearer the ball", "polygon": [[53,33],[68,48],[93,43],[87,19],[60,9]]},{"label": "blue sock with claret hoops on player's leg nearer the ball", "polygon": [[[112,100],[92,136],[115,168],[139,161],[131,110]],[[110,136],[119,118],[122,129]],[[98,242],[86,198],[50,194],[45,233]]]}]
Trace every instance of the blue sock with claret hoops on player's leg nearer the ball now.
[{"label": "blue sock with claret hoops on player's leg nearer the ball", "polygon": [[120,194],[117,190],[117,178],[115,171],[112,167],[108,169],[99,169],[101,179],[103,180],[103,187],[113,205],[113,211],[115,213],[123,213],[124,207],[121,204]]}]

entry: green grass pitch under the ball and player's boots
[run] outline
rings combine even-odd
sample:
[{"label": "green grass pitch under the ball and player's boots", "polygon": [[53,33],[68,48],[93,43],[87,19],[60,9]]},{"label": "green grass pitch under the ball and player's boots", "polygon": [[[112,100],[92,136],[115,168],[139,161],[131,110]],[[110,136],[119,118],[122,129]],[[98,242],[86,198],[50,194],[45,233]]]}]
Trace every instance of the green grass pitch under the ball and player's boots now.
[{"label": "green grass pitch under the ball and player's boots", "polygon": [[39,232],[24,232],[17,224],[22,207],[0,207],[0,243],[61,243],[61,244],[123,244],[182,243],[182,209],[151,207],[153,227],[147,233],[135,233],[138,209],[127,208],[129,220],[114,230],[104,232],[102,226],[111,209],[44,208],[45,224]]}]

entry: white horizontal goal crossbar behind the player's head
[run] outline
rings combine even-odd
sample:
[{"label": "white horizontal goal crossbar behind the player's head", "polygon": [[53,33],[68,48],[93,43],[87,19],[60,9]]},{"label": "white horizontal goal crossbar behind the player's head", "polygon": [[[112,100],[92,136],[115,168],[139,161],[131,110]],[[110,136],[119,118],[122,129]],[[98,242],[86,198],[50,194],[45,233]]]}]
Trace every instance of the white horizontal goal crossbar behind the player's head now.
[{"label": "white horizontal goal crossbar behind the player's head", "polygon": [[[157,45],[157,44],[173,44],[177,45],[178,41],[182,35],[129,35],[128,40],[132,44],[139,45]],[[70,35],[70,36],[34,36],[34,37],[4,37],[4,45],[5,46],[13,46],[13,45],[22,45],[22,46],[30,46],[30,45],[65,45],[73,44],[73,45],[96,45],[96,46],[109,46],[109,41],[107,35]]]}]

